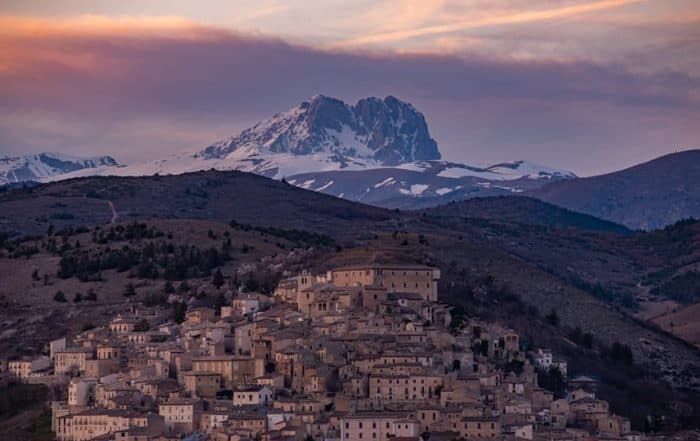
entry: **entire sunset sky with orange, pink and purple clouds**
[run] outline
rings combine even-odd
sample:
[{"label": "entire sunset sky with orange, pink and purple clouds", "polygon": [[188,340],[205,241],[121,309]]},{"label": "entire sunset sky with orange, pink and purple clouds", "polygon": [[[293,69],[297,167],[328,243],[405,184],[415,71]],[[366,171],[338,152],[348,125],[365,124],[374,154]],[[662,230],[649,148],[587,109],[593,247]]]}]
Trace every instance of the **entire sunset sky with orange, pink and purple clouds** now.
[{"label": "entire sunset sky with orange, pink and purple clouds", "polygon": [[2,0],[0,155],[194,152],[394,95],[443,158],[580,176],[700,148],[697,0]]}]

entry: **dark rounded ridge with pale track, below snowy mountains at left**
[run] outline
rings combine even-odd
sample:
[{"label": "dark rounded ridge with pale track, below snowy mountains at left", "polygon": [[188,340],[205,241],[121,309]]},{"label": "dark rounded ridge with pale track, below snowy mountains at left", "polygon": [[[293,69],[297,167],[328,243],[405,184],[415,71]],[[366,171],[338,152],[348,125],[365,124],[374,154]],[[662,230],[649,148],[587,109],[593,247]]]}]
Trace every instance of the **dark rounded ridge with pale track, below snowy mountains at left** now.
[{"label": "dark rounded ridge with pale track, below snowy mountains at left", "polygon": [[393,216],[389,210],[235,171],[92,176],[0,192],[0,232],[19,234],[43,233],[50,225],[59,230],[149,218],[235,219],[340,234],[355,222],[384,222]]}]

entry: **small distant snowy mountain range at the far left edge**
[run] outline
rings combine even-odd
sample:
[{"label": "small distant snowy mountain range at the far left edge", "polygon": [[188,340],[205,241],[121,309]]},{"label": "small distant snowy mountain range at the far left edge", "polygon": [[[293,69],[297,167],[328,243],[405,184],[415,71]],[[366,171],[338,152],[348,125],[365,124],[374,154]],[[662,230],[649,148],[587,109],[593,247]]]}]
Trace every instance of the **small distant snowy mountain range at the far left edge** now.
[{"label": "small distant snowy mountain range at the far left edge", "polygon": [[71,172],[97,167],[113,167],[117,161],[110,156],[77,158],[58,153],[0,157],[0,185],[43,181]]}]

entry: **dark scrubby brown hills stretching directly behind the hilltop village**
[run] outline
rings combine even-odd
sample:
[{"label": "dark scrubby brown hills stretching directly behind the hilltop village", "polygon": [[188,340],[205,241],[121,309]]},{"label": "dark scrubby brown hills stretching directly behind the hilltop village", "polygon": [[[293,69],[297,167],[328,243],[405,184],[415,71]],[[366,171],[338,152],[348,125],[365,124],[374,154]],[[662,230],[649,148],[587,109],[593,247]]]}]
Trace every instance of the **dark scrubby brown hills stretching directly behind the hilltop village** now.
[{"label": "dark scrubby brown hills stretching directly behind the hilltop village", "polygon": [[[630,383],[640,378],[647,388],[664,381],[700,387],[700,373],[693,371],[700,365],[697,349],[613,306],[578,278],[634,289],[647,269],[664,267],[665,254],[654,249],[667,241],[643,248],[637,245],[640,237],[650,233],[629,233],[538,201],[493,198],[403,212],[252,174],[210,171],[91,177],[10,190],[0,195],[0,213],[5,231],[36,235],[0,238],[3,350],[21,352],[35,337],[46,337],[36,330],[55,335],[100,320],[99,311],[114,313],[144,301],[172,278],[187,282],[201,296],[198,301],[214,302],[216,269],[246,280],[256,268],[265,280],[251,283],[262,287],[301,267],[323,271],[368,261],[410,262],[442,269],[443,301],[571,356],[579,366],[574,372],[610,376],[614,394],[625,403],[634,401],[629,394],[641,393]],[[134,227],[141,223],[145,227]],[[156,232],[117,232],[134,228]],[[232,248],[224,258],[229,238]],[[181,246],[187,244],[194,249],[184,253]],[[649,255],[660,257],[642,267]],[[135,297],[125,301],[129,283]],[[99,293],[97,301],[71,302],[90,288]],[[66,293],[67,302],[56,304],[57,290]],[[547,319],[553,314],[556,326]],[[594,348],[571,343],[569,334],[577,328],[593,335]],[[12,347],[13,335],[26,336],[22,347]],[[606,368],[601,357],[614,343],[629,346],[640,372],[648,369],[655,377],[619,378]]]}]

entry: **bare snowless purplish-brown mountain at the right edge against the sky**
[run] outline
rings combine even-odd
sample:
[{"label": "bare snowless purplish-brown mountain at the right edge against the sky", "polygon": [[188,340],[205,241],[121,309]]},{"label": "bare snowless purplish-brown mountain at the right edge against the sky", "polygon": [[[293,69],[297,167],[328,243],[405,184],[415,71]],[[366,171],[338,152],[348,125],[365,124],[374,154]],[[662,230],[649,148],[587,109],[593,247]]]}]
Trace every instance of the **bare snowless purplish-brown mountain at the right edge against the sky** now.
[{"label": "bare snowless purplish-brown mountain at the right edge against the sky", "polygon": [[530,195],[628,228],[662,228],[700,217],[700,150],[605,175],[548,183]]}]

